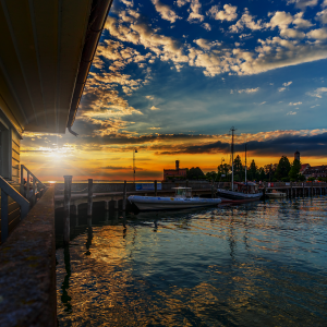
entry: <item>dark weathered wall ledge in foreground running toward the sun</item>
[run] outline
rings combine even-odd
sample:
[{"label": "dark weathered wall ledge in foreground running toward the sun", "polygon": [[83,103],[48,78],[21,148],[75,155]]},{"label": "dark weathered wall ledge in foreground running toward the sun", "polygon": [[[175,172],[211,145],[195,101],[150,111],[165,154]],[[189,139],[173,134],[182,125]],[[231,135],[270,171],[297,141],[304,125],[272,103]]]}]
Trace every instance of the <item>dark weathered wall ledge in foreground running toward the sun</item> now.
[{"label": "dark weathered wall ledge in foreground running toward the sun", "polygon": [[57,326],[55,189],[0,246],[0,326]]}]

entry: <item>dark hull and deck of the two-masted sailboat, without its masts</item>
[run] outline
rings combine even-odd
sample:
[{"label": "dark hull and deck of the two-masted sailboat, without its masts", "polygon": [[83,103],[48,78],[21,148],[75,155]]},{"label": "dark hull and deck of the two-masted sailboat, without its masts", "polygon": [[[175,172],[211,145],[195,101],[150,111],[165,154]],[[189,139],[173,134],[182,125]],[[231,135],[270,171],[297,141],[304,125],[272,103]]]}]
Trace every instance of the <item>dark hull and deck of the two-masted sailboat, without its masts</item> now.
[{"label": "dark hull and deck of the two-masted sailboat, without its masts", "polygon": [[263,196],[258,191],[258,185],[254,182],[239,183],[234,182],[237,190],[217,189],[217,195],[227,199],[249,199],[255,201]]}]

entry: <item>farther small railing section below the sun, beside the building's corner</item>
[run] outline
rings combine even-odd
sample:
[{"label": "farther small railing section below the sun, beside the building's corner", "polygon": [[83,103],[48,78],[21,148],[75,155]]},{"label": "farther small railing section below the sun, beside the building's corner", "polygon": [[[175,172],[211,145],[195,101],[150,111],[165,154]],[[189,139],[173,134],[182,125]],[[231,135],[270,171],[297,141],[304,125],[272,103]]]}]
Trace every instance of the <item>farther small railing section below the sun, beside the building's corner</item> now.
[{"label": "farther small railing section below the sun, beside the building's corner", "polygon": [[[26,181],[24,179],[24,170],[27,172]],[[26,166],[21,165],[21,194],[31,202],[31,206],[36,204],[46,190],[47,186]]]}]

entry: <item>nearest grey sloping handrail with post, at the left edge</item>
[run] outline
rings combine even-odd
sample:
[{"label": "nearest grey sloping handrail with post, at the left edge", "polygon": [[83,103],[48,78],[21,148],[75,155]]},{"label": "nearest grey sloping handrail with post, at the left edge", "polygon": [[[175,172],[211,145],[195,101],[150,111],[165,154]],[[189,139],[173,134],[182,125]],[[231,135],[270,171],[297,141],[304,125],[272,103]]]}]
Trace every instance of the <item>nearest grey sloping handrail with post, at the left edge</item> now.
[{"label": "nearest grey sloping handrail with post, at the left edge", "polygon": [[0,177],[1,189],[1,243],[8,238],[8,196],[15,201],[21,207],[21,219],[25,218],[29,210],[29,202]]}]

